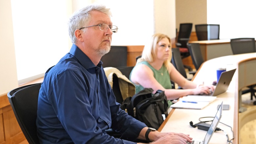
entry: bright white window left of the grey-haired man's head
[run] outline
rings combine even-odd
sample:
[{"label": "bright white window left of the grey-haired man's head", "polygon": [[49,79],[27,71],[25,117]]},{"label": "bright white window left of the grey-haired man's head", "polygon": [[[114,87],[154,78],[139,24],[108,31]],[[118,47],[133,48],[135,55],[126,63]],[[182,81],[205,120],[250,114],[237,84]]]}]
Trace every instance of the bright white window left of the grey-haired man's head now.
[{"label": "bright white window left of the grey-haired man's head", "polygon": [[70,2],[11,0],[19,84],[31,76],[43,77],[69,51]]}]

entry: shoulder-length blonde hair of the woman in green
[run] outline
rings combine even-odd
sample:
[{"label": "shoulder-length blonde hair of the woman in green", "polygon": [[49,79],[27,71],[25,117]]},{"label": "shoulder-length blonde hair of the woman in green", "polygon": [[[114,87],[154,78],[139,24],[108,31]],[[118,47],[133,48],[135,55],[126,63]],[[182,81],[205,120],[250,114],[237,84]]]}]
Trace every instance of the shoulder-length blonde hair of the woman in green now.
[{"label": "shoulder-length blonde hair of the woman in green", "polygon": [[[157,44],[159,41],[161,41],[163,38],[167,38],[171,44],[171,39],[164,34],[161,33],[156,33],[154,35],[152,35],[151,37],[151,41],[148,45],[144,46],[144,49],[142,51],[142,55],[141,58],[139,58],[137,60],[137,63],[142,62],[142,61],[147,61],[149,63],[154,62],[156,59],[156,52],[157,52]],[[170,50],[170,55],[168,60],[164,61],[163,64],[164,66],[168,69],[168,63],[171,62],[171,58],[172,58],[172,51]]]}]

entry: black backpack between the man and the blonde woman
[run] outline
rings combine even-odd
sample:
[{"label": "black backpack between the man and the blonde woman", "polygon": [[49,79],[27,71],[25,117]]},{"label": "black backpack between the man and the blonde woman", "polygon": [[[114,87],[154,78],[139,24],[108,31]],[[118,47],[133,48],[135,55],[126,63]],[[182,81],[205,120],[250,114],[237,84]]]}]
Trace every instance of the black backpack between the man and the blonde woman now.
[{"label": "black backpack between the man and the blonde woman", "polygon": [[163,122],[162,115],[168,115],[168,102],[164,91],[158,90],[154,95],[153,91],[152,88],[144,88],[133,97],[126,98],[121,109],[148,127],[158,129]]}]

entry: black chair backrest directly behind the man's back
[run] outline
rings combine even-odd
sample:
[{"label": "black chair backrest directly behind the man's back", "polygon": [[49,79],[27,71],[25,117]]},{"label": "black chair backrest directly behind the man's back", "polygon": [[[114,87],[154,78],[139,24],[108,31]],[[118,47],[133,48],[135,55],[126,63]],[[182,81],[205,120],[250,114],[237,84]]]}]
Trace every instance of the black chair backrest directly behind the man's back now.
[{"label": "black chair backrest directly behind the man's back", "polygon": [[36,130],[37,101],[41,83],[11,90],[7,96],[18,124],[30,144],[38,144]]}]

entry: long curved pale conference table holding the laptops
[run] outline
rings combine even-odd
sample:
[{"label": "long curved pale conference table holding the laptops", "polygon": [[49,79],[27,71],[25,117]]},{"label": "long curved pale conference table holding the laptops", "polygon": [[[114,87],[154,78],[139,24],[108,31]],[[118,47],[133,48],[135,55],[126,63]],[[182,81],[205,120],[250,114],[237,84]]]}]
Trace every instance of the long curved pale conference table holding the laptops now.
[{"label": "long curved pale conference table holding the laptops", "polygon": [[[200,70],[194,76],[193,81],[199,84],[203,82],[205,85],[211,84],[213,81],[217,80],[217,68],[225,67],[227,71],[235,69],[239,61],[251,57],[256,57],[256,53],[229,55],[208,60],[203,63]],[[236,75],[237,71],[235,72],[232,81],[230,82],[228,90],[225,93],[218,95],[215,101],[210,103],[202,110],[177,108],[172,109],[168,117],[160,126],[159,131],[189,134],[195,140],[203,140],[204,136],[206,135],[206,131],[191,127],[189,122],[192,121],[194,124],[196,124],[200,122],[200,117],[214,117],[217,113],[217,105],[221,104],[222,101],[223,104],[229,104],[230,109],[223,110],[223,116],[220,122],[233,128]],[[203,118],[202,120],[209,120],[209,118]],[[231,128],[222,123],[219,123],[217,127],[224,130],[224,132],[215,132],[210,140],[210,144],[227,144],[226,134],[229,136],[229,140],[233,138]],[[237,129],[238,128],[235,128],[235,130]]]}]

